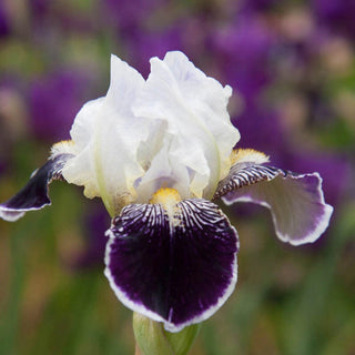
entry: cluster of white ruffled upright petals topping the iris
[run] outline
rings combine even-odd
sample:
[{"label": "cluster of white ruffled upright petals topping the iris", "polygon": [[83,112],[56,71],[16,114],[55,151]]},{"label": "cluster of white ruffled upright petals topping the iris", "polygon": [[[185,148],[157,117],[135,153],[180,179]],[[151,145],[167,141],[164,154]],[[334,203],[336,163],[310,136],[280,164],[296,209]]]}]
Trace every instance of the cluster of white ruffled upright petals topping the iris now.
[{"label": "cluster of white ruffled upright petals topping the iris", "polygon": [[240,139],[226,110],[231,94],[182,52],[152,58],[146,81],[112,55],[106,95],[78,113],[70,144],[54,145],[54,154],[74,154],[62,174],[110,213],[148,202],[161,186],[211,199]]}]

